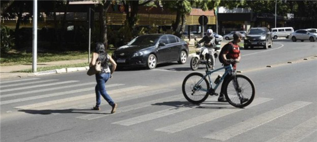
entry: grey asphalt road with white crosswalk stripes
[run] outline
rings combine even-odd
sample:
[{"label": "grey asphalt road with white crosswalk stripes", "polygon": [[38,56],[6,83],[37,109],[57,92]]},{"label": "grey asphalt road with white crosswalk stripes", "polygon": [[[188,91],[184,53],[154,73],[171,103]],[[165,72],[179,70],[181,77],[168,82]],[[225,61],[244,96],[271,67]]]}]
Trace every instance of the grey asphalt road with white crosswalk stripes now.
[{"label": "grey asphalt road with white crosswalk stripes", "polygon": [[106,86],[119,105],[116,114],[104,99],[100,111],[90,110],[96,83],[85,71],[1,80],[0,141],[317,142],[317,42],[279,40],[241,54],[237,70],[256,87],[244,109],[215,96],[187,102],[181,85],[193,72],[190,58],[115,72]]}]

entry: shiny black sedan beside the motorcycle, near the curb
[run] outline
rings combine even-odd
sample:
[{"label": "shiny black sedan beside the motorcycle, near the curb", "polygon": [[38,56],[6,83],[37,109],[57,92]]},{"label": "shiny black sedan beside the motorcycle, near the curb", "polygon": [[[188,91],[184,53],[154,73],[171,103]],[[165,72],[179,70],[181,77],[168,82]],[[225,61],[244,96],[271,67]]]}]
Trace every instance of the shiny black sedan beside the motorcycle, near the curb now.
[{"label": "shiny black sedan beside the motorcycle, near the curb", "polygon": [[112,54],[117,67],[147,67],[154,69],[157,64],[187,60],[188,44],[170,34],[148,34],[134,38],[127,45],[119,47]]}]

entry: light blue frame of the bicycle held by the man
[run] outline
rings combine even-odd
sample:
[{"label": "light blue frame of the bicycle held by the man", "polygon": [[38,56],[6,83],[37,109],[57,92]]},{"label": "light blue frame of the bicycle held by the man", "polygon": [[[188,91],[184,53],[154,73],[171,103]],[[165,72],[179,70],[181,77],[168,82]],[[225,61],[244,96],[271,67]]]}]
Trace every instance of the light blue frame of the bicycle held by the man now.
[{"label": "light blue frame of the bicycle held by the man", "polygon": [[[211,85],[211,88],[212,88],[213,90],[216,90],[216,89],[218,88],[218,86],[222,83],[222,81],[224,80],[224,78],[225,78],[226,75],[228,75],[228,74],[233,74],[233,75],[234,75],[234,73],[235,73],[235,72],[234,72],[234,69],[233,69],[233,67],[232,67],[231,64],[228,65],[228,66],[224,66],[224,67],[215,69],[214,71],[209,71],[209,70],[208,70],[208,67],[207,67],[207,64],[206,64],[206,69],[207,69],[207,70],[206,70],[206,75],[204,75],[204,76],[200,79],[200,81],[199,81],[197,84],[195,84],[194,89],[207,92],[207,91],[208,91],[207,89],[197,88],[197,86],[200,85],[200,83],[203,81],[203,79],[208,76],[208,80],[209,80],[209,84]],[[222,70],[222,69],[225,69],[226,71],[225,71],[225,73],[222,75],[222,77],[220,78],[219,83],[216,84],[215,87],[213,87],[213,83],[212,83],[212,81],[211,81],[210,75],[211,75],[212,73],[214,73],[214,72],[216,72],[216,71],[220,71],[220,70]]]}]

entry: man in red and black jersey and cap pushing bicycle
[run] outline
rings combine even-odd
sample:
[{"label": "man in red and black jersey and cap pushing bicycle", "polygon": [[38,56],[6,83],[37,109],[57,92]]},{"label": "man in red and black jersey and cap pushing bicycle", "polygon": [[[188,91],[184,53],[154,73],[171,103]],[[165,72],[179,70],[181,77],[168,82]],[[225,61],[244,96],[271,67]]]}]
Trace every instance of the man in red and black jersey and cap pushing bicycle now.
[{"label": "man in red and black jersey and cap pushing bicycle", "polygon": [[[224,45],[221,49],[219,58],[222,57],[224,63],[223,66],[228,66],[230,65],[230,62],[228,62],[228,60],[234,59],[235,61],[240,61],[241,59],[241,53],[240,53],[240,46],[239,43],[242,41],[242,34],[240,32],[235,32],[234,33],[234,40],[232,42],[227,43],[226,45]],[[236,70],[236,62],[231,62],[231,65],[234,69],[234,71]],[[226,82],[228,80],[230,76],[227,75],[225,76],[223,83]],[[219,98],[218,101],[221,102],[226,102],[227,100],[224,97],[223,91],[224,90],[224,86],[221,86],[221,91],[219,94]],[[249,99],[247,98],[242,98],[241,102],[246,102]]]}]

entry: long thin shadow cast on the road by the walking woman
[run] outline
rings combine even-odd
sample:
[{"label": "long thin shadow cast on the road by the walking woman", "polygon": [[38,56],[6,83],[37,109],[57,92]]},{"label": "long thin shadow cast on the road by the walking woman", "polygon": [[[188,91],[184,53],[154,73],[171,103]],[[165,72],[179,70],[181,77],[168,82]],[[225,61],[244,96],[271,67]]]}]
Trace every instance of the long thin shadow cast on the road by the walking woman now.
[{"label": "long thin shadow cast on the road by the walking woman", "polygon": [[109,113],[91,113],[91,112],[77,112],[77,111],[94,111],[91,109],[66,109],[66,110],[18,110],[18,112],[24,112],[28,114],[42,114],[42,115],[48,115],[48,114],[111,114]]}]

